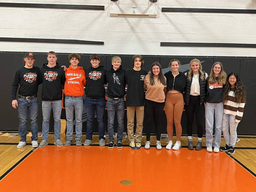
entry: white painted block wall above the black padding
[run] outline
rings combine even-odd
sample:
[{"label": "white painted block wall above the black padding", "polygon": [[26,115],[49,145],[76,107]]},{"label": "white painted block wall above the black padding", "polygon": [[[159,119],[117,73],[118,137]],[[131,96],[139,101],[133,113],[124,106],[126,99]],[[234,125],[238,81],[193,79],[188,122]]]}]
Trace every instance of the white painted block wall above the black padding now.
[{"label": "white painted block wall above the black padding", "polygon": [[[109,16],[110,0],[6,3],[104,5],[104,11],[0,7],[0,36],[104,41],[104,45],[0,42],[0,51],[256,56],[256,48],[160,47],[160,42],[256,44],[256,14],[161,12],[162,7],[256,9],[256,0],[158,0],[158,15]],[[131,7],[132,0],[119,0]],[[136,0],[138,8],[148,0]]]}]

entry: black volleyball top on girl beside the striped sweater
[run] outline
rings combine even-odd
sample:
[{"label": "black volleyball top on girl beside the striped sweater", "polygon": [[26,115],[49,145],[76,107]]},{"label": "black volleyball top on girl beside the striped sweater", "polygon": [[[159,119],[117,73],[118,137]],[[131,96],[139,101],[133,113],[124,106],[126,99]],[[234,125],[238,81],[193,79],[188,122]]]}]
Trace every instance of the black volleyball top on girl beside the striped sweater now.
[{"label": "black volleyball top on girl beside the striped sweater", "polygon": [[218,83],[218,77],[216,77],[216,83],[209,84],[209,78],[206,78],[205,86],[205,101],[208,103],[220,103],[222,102],[222,95],[225,84]]}]

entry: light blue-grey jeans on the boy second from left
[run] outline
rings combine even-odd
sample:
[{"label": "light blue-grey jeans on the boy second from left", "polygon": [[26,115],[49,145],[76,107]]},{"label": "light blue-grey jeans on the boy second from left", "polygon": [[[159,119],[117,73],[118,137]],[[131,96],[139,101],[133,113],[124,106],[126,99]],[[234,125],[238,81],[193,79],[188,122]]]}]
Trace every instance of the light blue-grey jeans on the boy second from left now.
[{"label": "light blue-grey jeans on the boy second from left", "polygon": [[54,140],[60,140],[60,115],[61,115],[61,100],[57,101],[42,101],[42,112],[43,112],[43,140],[48,141],[49,134],[49,120],[51,111],[53,111],[54,118]]}]

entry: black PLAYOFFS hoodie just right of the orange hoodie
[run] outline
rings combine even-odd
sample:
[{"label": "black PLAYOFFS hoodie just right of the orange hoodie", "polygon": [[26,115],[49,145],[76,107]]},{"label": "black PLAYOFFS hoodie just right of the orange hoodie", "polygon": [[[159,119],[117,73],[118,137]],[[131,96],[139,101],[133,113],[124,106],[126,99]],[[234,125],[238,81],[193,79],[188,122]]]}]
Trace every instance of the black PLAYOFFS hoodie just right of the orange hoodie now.
[{"label": "black PLAYOFFS hoodie just right of the orange hoodie", "polygon": [[103,66],[96,68],[88,67],[85,69],[86,77],[86,88],[85,95],[86,97],[100,99],[105,98],[105,87],[104,84],[107,84],[106,80],[106,71]]}]

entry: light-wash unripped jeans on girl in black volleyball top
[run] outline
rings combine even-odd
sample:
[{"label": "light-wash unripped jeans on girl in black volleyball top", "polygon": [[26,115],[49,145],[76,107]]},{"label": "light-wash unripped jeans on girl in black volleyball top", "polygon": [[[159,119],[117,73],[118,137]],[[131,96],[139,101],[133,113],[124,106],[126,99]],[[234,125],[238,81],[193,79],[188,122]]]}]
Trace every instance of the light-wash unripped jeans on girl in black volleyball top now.
[{"label": "light-wash unripped jeans on girl in black volleyball top", "polygon": [[213,118],[215,113],[215,134],[213,147],[220,148],[223,103],[208,103],[205,106],[205,137],[206,147],[212,147]]}]

